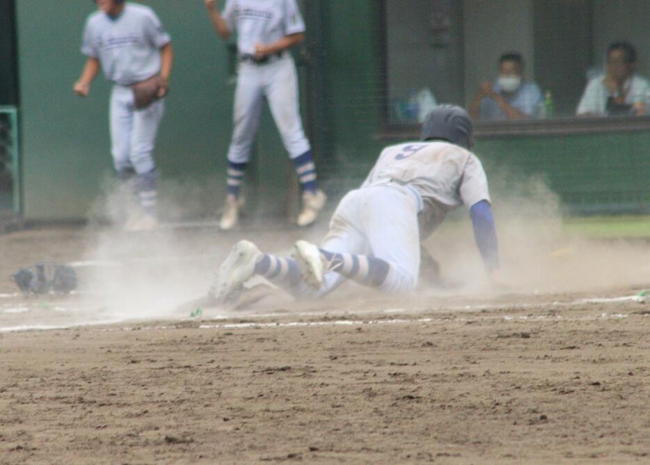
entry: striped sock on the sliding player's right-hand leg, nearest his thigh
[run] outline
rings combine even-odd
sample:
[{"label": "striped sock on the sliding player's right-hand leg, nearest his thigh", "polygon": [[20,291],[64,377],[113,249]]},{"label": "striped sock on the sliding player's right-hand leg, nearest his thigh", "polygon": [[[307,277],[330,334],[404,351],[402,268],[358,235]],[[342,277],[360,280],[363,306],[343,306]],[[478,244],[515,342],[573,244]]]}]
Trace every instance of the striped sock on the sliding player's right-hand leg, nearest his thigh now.
[{"label": "striped sock on the sliding player's right-hand leg, nearest his thigh", "polygon": [[319,251],[329,262],[328,271],[336,271],[356,283],[379,287],[386,281],[390,263],[381,258],[369,257],[367,255],[355,255],[354,253],[333,253],[323,249]]}]

